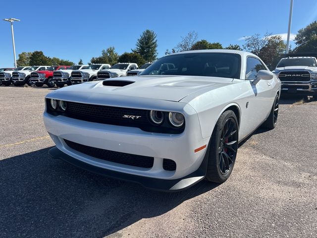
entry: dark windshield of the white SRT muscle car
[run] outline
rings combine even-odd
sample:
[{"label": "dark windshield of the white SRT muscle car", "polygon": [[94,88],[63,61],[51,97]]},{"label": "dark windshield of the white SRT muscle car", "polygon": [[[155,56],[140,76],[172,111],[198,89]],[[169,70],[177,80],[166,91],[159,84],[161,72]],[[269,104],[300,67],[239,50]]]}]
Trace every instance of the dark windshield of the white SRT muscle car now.
[{"label": "dark windshield of the white SRT muscle car", "polygon": [[186,53],[162,57],[140,75],[240,78],[241,57],[231,53]]}]

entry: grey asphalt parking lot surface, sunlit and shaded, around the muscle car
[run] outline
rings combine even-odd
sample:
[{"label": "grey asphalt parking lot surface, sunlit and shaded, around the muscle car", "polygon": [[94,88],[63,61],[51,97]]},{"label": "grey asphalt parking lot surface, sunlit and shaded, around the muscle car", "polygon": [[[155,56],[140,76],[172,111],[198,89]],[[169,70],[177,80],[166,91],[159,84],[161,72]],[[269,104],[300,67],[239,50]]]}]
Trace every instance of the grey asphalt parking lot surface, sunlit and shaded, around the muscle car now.
[{"label": "grey asphalt parking lot surface, sunlit and shaded, around the muscle car", "polygon": [[0,87],[0,237],[317,237],[317,101],[282,99],[225,183],[161,193],[49,158],[51,90]]}]

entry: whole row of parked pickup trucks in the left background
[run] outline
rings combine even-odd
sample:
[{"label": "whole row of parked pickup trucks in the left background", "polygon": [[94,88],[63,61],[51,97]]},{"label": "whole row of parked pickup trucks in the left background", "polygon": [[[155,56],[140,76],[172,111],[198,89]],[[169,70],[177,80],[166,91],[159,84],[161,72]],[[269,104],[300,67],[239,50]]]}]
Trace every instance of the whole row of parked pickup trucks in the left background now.
[{"label": "whole row of parked pickup trucks in the left background", "polygon": [[88,81],[104,80],[112,77],[134,76],[146,69],[151,63],[140,68],[136,63],[116,63],[114,65],[100,63],[90,65],[58,65],[58,66],[24,66],[0,71],[0,82],[8,86],[35,85],[42,87],[63,87]]}]

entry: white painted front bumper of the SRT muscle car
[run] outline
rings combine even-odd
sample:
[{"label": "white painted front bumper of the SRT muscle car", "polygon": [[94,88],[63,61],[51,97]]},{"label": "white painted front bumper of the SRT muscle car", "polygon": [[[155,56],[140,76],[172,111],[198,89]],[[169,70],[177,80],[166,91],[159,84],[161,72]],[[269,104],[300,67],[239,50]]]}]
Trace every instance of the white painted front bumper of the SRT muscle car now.
[{"label": "white painted front bumper of the SRT muscle car", "polygon": [[[181,103],[165,103],[184,107]],[[175,107],[173,108],[176,110]],[[94,123],[63,116],[56,117],[46,112],[44,123],[56,147],[84,164],[144,178],[175,180],[187,178],[200,168],[207,149],[196,153],[195,149],[207,145],[210,140],[210,137],[202,137],[196,111],[186,105],[184,113],[186,126],[181,134],[146,132],[136,127]],[[141,168],[101,160],[70,148],[65,140],[97,149],[153,157],[154,163],[151,168]],[[173,160],[176,163],[176,170],[164,170],[163,159]]]}]

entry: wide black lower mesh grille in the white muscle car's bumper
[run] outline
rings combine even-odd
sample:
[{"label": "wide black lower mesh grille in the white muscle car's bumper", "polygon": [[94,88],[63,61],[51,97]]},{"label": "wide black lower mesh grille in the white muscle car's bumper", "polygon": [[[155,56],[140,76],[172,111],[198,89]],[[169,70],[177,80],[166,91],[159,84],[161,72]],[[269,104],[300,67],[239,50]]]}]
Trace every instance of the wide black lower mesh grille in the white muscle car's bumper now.
[{"label": "wide black lower mesh grille in the white muscle car's bumper", "polygon": [[95,148],[87,145],[78,144],[69,140],[65,140],[65,143],[80,153],[89,155],[101,160],[106,160],[118,164],[130,165],[141,168],[152,168],[154,163],[153,157],[147,157],[142,155],[133,155],[127,153],[121,153],[111,150],[105,150],[100,148]]}]

